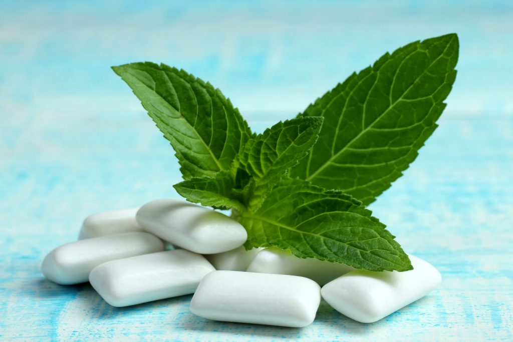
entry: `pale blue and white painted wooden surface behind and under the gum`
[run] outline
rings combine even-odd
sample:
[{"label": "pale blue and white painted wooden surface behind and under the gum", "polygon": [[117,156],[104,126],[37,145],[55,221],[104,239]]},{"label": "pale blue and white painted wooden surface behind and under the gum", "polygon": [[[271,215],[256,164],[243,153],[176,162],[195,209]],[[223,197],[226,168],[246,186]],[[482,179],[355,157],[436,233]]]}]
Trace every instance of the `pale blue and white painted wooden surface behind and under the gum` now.
[{"label": "pale blue and white painted wooden surface behind and under the gum", "polygon": [[[511,340],[510,2],[0,3],[0,340]],[[172,150],[110,65],[152,60],[220,87],[257,131],[384,51],[458,32],[440,127],[374,214],[442,285],[374,324],[322,303],[290,329],[208,321],[190,296],[131,308],[39,271],[93,212],[177,197]]]}]

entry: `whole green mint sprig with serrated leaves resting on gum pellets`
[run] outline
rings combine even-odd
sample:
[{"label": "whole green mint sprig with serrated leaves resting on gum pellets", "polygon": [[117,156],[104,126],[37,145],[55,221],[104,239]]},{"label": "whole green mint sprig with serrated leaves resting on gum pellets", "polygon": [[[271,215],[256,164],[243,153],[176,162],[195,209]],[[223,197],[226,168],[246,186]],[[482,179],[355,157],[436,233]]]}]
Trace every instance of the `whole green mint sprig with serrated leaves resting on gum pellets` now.
[{"label": "whole green mint sprig with serrated leaves resting on gum pellets", "polygon": [[185,179],[176,191],[232,209],[248,231],[247,249],[406,271],[408,256],[364,205],[402,175],[437,127],[458,48],[448,34],[387,53],[258,135],[219,89],[183,70],[148,62],[113,70],[174,148]]}]

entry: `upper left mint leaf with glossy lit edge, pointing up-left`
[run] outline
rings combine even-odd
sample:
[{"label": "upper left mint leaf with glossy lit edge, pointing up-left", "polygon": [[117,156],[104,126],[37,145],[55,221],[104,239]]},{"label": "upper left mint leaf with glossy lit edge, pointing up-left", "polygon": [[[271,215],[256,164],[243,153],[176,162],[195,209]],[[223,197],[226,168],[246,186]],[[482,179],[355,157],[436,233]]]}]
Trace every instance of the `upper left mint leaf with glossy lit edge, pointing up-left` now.
[{"label": "upper left mint leaf with glossy lit edge, pointing up-left", "polygon": [[171,143],[184,179],[230,169],[251,132],[219,89],[165,64],[133,63],[112,69]]}]

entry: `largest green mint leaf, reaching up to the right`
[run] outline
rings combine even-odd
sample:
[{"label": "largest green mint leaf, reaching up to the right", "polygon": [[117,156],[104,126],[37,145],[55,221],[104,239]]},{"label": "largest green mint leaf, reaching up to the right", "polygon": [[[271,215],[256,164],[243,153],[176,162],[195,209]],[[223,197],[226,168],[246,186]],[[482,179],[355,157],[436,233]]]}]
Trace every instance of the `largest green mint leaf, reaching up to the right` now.
[{"label": "largest green mint leaf, reaching up to the right", "polygon": [[324,117],[318,143],[291,176],[372,203],[437,127],[458,50],[456,34],[413,42],[317,99],[302,115]]}]

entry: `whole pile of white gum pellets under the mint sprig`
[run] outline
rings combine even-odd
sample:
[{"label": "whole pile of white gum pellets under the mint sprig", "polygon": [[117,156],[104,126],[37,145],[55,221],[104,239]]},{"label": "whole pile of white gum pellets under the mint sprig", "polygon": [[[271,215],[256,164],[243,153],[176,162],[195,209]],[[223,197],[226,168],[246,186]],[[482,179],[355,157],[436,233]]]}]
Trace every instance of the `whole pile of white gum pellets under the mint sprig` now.
[{"label": "whole pile of white gum pellets under the mint sprig", "polygon": [[370,272],[275,248],[246,251],[246,238],[244,227],[218,211],[161,199],[87,217],[78,241],[51,251],[41,268],[57,284],[90,281],[115,307],[194,293],[196,315],[285,327],[311,324],[321,296],[371,323],[441,281],[412,255],[412,271]]}]

